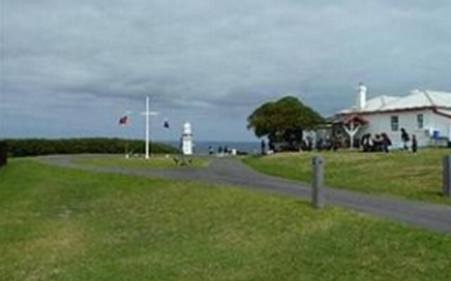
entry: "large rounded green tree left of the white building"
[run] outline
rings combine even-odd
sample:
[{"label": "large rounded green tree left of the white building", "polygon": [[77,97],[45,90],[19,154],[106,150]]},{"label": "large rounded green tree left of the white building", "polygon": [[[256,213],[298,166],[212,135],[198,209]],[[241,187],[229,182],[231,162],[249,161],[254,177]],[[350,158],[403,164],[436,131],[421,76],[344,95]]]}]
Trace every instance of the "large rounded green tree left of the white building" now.
[{"label": "large rounded green tree left of the white building", "polygon": [[302,139],[302,130],[313,129],[324,121],[318,112],[299,99],[287,96],[265,103],[247,117],[247,129],[258,138],[267,136],[270,141],[293,143]]}]

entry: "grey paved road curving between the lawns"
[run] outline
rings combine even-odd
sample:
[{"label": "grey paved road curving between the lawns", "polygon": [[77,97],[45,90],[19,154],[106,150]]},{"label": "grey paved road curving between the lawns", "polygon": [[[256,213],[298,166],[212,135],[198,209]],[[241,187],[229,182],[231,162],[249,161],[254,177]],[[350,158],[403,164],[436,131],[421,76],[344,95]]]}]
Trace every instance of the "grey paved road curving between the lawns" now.
[{"label": "grey paved road curving between the lawns", "polygon": [[[57,155],[40,157],[42,161],[89,171],[113,172],[158,178],[187,179],[239,185],[284,195],[310,197],[310,187],[297,181],[267,176],[250,169],[237,159],[214,159],[208,168],[202,169],[149,169],[124,166],[88,166],[73,162],[76,157],[102,157],[99,155]],[[109,157],[109,156],[103,156]],[[381,183],[383,184],[383,183]],[[397,221],[424,228],[451,233],[451,207],[413,202],[395,197],[366,195],[359,192],[325,188],[328,204],[347,207],[364,213],[393,218]]]}]

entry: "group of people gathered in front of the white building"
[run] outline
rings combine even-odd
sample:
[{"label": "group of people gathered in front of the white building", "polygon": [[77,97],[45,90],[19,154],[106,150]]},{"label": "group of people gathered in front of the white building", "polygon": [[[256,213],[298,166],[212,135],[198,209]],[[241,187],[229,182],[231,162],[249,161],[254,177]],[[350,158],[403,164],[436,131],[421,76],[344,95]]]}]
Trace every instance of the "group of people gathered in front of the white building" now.
[{"label": "group of people gathered in front of the white building", "polygon": [[[411,145],[412,152],[418,151],[418,141],[416,136],[412,135],[412,140],[407,133],[406,129],[401,129],[401,141],[402,148],[409,150],[409,144]],[[360,146],[364,152],[390,152],[390,146],[393,143],[386,133],[376,134],[374,138],[371,137],[371,133],[366,133],[360,138]]]}]

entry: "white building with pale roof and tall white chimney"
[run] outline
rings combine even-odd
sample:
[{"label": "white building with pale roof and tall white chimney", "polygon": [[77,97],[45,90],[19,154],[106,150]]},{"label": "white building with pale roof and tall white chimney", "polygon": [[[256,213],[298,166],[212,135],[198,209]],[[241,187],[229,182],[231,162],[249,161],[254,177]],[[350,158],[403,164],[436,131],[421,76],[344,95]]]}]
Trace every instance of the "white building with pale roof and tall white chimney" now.
[{"label": "white building with pale roof and tall white chimney", "polygon": [[359,140],[364,133],[387,133],[395,148],[402,145],[401,128],[419,145],[451,142],[451,93],[413,90],[407,96],[377,96],[367,99],[367,89],[359,84],[357,103],[336,113],[347,136]]}]

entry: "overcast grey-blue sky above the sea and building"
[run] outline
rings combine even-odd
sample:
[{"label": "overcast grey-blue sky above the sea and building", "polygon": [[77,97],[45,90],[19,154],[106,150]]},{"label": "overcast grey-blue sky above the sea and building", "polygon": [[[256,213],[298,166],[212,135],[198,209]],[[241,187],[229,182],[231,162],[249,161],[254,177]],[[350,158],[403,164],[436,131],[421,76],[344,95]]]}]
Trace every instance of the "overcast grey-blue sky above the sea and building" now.
[{"label": "overcast grey-blue sky above the sea and building", "polygon": [[[293,95],[323,115],[370,96],[451,91],[451,1],[0,0],[1,137],[254,140],[246,117]],[[393,2],[396,2],[394,4]],[[168,118],[171,130],[161,124]]]}]

